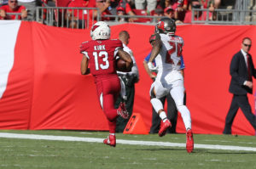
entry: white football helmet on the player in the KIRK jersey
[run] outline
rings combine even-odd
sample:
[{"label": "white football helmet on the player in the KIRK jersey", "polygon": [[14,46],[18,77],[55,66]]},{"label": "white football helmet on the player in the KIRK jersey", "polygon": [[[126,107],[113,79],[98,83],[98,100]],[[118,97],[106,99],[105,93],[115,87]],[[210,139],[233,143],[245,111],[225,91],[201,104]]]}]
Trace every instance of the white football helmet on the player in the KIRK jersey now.
[{"label": "white football helmet on the player in the KIRK jersey", "polygon": [[106,22],[98,21],[95,25],[91,26],[90,37],[92,40],[109,39],[110,27]]}]

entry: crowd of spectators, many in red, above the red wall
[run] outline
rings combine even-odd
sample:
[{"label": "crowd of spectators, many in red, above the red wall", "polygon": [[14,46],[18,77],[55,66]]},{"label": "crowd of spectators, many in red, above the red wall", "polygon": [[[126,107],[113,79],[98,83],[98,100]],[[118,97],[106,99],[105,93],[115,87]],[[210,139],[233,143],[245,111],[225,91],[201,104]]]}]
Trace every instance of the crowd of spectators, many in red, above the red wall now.
[{"label": "crowd of spectators, many in red, above the red wall", "polygon": [[[225,0],[0,0],[0,20],[36,20],[36,7],[70,7],[70,8],[99,8],[101,20],[115,20],[121,22],[151,22],[152,18],[136,17],[159,16],[169,17],[176,23],[191,23],[194,20],[214,20],[214,10],[219,8]],[[192,8],[208,9],[196,11]],[[16,13],[16,14],[14,14]],[[65,19],[70,20],[70,26],[83,24],[82,20],[88,18],[96,20],[97,10],[84,10],[77,12],[75,9],[65,11]],[[113,15],[109,16],[109,15]],[[132,16],[133,15],[133,16]],[[134,16],[136,15],[136,16]],[[88,17],[89,16],[89,17]],[[107,16],[107,17],[106,17]],[[208,19],[207,19],[208,17]],[[156,17],[155,17],[156,18]],[[157,18],[156,18],[157,19]],[[157,20],[160,20],[157,19]]]}]

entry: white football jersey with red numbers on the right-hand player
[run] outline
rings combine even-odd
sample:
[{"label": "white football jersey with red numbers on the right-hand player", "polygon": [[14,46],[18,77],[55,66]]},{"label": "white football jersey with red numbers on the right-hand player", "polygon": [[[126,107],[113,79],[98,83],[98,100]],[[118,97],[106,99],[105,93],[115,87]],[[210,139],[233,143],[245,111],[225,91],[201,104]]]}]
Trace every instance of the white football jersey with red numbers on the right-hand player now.
[{"label": "white football jersey with red numbers on the right-hand player", "polygon": [[181,70],[181,56],[183,51],[183,38],[160,34],[162,48],[155,58],[159,71]]}]

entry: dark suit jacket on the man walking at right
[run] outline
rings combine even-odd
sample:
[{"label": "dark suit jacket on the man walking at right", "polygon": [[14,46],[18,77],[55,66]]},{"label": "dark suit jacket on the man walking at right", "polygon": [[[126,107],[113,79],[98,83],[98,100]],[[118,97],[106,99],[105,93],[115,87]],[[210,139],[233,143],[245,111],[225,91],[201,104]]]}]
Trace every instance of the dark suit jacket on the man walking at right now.
[{"label": "dark suit jacket on the man walking at right", "polygon": [[[250,64],[250,72],[251,76],[256,78],[256,70],[254,69],[253,59],[251,54],[249,55],[249,64]],[[241,54],[241,51],[236,53],[230,64],[230,93],[234,93],[236,95],[244,95],[247,93],[253,93],[253,89],[246,87],[243,85],[245,81],[248,81],[249,76],[247,72],[247,64],[244,59],[244,56]]]}]

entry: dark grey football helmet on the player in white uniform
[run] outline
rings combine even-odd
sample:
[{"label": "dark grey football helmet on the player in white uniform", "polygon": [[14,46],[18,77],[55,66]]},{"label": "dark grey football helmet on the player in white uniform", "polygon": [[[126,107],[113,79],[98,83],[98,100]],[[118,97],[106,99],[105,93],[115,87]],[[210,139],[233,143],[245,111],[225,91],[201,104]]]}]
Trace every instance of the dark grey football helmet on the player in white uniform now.
[{"label": "dark grey football helmet on the player in white uniform", "polygon": [[175,20],[171,18],[163,18],[155,25],[155,33],[164,33],[174,35],[176,31]]}]

